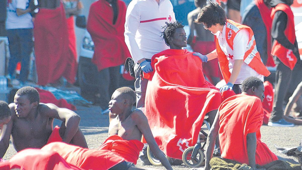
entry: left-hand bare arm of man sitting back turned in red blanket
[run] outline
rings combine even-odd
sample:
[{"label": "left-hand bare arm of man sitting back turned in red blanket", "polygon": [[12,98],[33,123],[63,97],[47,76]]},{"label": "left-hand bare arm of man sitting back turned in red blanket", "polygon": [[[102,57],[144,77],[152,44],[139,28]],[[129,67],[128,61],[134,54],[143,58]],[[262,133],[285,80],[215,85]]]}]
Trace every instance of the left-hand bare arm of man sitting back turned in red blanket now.
[{"label": "left-hand bare arm of man sitting back turned in red blanket", "polygon": [[210,160],[213,156],[213,151],[215,147],[215,141],[218,135],[218,130],[219,130],[219,112],[217,111],[216,117],[214,119],[214,123],[209,131],[209,135],[207,137],[207,142],[206,142],[206,158],[205,158],[205,165],[204,165],[204,170],[210,170]]}]

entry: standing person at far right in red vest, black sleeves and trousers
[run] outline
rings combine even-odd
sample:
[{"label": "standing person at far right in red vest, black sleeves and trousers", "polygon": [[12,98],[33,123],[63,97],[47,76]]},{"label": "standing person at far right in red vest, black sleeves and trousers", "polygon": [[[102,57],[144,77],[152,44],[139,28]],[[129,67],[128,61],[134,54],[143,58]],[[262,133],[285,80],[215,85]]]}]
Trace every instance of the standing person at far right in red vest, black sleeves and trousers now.
[{"label": "standing person at far right in red vest, black sleeves and trousers", "polygon": [[[291,75],[296,69],[301,69],[301,60],[295,34],[294,14],[290,5],[293,0],[271,0],[272,29],[274,39],[271,54],[274,55],[276,70],[276,86],[273,102],[273,112],[268,126],[291,127],[283,116],[283,100],[291,82]],[[301,72],[300,72],[301,74]],[[297,81],[296,77],[293,81]]]}]

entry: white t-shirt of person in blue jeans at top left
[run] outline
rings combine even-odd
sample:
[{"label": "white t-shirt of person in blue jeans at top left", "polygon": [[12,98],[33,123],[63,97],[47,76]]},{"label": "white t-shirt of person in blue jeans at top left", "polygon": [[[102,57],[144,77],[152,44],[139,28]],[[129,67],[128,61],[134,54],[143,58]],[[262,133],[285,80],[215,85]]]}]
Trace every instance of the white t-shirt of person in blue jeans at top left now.
[{"label": "white t-shirt of person in blue jeans at top left", "polygon": [[17,16],[17,8],[25,10],[29,0],[12,0],[7,7],[6,29],[34,28],[30,13]]}]

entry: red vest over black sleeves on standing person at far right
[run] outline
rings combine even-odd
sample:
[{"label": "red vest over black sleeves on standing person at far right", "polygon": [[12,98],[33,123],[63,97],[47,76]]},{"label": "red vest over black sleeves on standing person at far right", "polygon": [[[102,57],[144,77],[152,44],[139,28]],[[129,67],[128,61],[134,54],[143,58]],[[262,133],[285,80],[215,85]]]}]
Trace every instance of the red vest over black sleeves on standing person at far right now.
[{"label": "red vest over black sleeves on standing person at far right", "polygon": [[[278,4],[271,11],[271,18],[274,18],[276,11],[283,11],[287,15],[287,25],[284,30],[284,34],[291,44],[295,43],[295,24],[294,24],[294,14],[291,8],[286,4]],[[294,69],[297,63],[297,57],[294,55],[293,51],[283,47],[278,41],[275,41],[271,49],[271,55],[278,57],[278,59],[291,70]]]}]

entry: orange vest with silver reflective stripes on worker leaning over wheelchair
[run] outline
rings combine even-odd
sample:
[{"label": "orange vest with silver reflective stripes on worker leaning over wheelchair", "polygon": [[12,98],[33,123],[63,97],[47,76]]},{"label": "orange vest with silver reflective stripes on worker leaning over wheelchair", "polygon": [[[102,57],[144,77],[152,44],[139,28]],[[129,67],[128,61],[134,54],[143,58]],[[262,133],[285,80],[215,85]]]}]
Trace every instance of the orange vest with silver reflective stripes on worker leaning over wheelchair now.
[{"label": "orange vest with silver reflective stripes on worker leaning over wheelchair", "polygon": [[[262,63],[260,54],[257,51],[256,42],[254,38],[254,33],[251,28],[246,25],[241,25],[237,22],[234,22],[230,19],[226,20],[226,42],[233,50],[233,40],[238,33],[239,30],[246,29],[249,32],[249,42],[246,47],[246,52],[243,56],[243,61],[249,65],[252,69],[254,69],[258,74],[263,76],[269,76],[271,73],[267,70],[265,65]],[[229,61],[227,60],[226,55],[220,48],[218,43],[218,39],[216,39],[216,50],[218,55],[218,62],[220,71],[224,81],[229,82],[231,73],[229,68]]]}]

